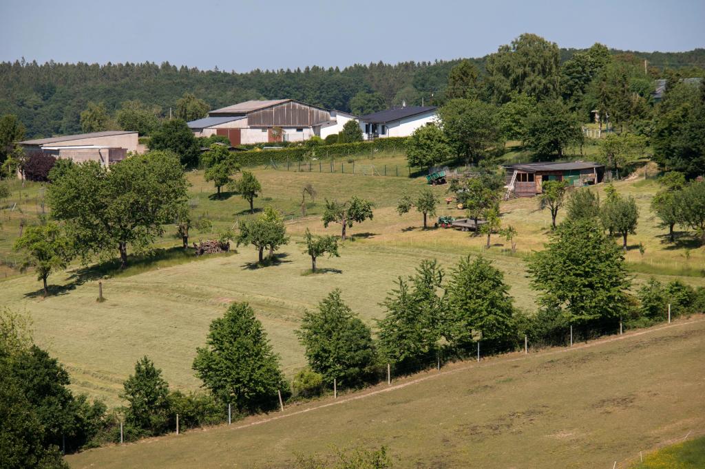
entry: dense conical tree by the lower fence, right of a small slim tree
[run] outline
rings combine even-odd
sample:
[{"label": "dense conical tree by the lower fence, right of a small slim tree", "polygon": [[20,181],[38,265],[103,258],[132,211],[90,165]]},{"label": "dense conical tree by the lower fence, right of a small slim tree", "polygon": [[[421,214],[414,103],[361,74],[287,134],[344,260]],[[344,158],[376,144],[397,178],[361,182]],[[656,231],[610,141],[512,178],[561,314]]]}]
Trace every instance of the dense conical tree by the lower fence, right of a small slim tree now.
[{"label": "dense conical tree by the lower fence, right of a small slim tree", "polygon": [[223,404],[240,412],[269,409],[288,384],[262,323],[247,303],[233,303],[213,320],[206,346],[196,349],[193,369]]}]

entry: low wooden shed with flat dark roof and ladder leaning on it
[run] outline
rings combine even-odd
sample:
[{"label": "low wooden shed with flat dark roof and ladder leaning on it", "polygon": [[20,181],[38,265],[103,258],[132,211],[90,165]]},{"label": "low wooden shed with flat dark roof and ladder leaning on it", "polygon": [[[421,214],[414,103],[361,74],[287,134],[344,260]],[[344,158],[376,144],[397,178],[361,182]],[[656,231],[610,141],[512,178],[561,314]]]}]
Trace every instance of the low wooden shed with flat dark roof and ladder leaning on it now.
[{"label": "low wooden shed with flat dark roof and ladder leaning on it", "polygon": [[541,194],[544,181],[568,181],[573,187],[602,182],[605,165],[591,161],[520,163],[504,166],[507,170],[506,198],[511,195],[533,197]]}]

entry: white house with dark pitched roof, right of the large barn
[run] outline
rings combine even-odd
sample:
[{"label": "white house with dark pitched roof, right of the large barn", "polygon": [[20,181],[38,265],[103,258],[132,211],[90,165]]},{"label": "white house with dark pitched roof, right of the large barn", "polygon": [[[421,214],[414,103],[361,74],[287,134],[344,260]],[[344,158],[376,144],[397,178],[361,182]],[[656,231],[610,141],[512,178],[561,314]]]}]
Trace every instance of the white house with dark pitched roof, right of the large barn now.
[{"label": "white house with dark pitched roof, right of the large barn", "polygon": [[360,116],[360,129],[367,140],[408,137],[417,128],[436,122],[436,106],[405,106]]}]

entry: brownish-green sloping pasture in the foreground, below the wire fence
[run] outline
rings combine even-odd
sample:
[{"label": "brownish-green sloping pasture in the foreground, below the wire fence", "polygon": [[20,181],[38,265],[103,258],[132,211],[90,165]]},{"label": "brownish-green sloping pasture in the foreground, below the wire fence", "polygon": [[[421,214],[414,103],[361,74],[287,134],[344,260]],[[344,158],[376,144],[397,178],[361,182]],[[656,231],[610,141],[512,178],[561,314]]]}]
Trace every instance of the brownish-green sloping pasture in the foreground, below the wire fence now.
[{"label": "brownish-green sloping pasture in the foreground, below the wire fence", "polygon": [[338,401],[66,460],[75,468],[286,468],[297,453],[384,445],[397,468],[626,468],[639,451],[704,428],[704,319],[455,363]]}]

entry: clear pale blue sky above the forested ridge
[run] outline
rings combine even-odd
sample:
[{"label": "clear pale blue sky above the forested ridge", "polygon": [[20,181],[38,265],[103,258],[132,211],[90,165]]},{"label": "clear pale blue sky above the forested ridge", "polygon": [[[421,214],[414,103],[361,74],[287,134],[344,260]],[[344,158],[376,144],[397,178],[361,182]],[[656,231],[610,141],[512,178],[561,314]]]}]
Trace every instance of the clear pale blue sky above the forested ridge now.
[{"label": "clear pale blue sky above the forested ridge", "polygon": [[0,0],[0,61],[169,61],[235,70],[484,56],[522,32],[559,46],[705,46],[704,0]]}]

